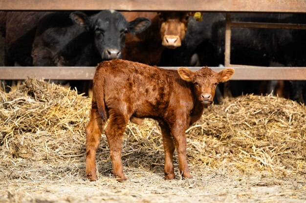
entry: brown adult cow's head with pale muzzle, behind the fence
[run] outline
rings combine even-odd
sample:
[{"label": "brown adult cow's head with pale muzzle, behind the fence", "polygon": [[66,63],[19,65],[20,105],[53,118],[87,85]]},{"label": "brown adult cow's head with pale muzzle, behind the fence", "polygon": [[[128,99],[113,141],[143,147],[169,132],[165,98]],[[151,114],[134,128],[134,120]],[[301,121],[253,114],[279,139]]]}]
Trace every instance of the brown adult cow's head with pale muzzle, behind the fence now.
[{"label": "brown adult cow's head with pale muzzle, behind the fence", "polygon": [[159,12],[162,45],[175,49],[185,37],[190,12]]}]

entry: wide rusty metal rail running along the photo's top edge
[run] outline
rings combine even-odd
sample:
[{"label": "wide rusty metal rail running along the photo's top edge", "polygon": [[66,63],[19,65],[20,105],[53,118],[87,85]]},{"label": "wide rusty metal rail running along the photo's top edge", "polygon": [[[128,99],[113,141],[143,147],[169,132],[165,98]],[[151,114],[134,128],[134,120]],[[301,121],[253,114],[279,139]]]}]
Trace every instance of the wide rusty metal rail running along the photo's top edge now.
[{"label": "wide rusty metal rail running along the photo's top edge", "polygon": [[0,10],[103,9],[305,13],[306,0],[0,0]]}]

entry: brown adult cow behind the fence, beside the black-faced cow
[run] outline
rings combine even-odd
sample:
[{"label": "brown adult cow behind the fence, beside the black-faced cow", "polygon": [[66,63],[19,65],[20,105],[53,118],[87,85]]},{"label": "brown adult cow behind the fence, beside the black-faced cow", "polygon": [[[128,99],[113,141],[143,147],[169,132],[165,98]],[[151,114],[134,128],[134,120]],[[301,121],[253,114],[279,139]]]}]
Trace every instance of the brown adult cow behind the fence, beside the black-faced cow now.
[{"label": "brown adult cow behind the fence, beside the black-faced cow", "polygon": [[121,12],[127,20],[145,17],[151,26],[142,33],[127,35],[122,58],[149,65],[158,65],[165,48],[181,46],[191,12]]}]

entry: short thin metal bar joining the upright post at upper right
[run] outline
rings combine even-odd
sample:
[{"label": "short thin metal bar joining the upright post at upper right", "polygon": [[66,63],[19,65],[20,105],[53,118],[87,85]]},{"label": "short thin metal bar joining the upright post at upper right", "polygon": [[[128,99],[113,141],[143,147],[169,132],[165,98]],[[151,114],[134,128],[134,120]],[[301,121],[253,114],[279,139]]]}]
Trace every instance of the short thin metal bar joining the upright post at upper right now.
[{"label": "short thin metal bar joining the upright post at upper right", "polygon": [[306,30],[306,24],[290,23],[231,22],[231,27]]}]

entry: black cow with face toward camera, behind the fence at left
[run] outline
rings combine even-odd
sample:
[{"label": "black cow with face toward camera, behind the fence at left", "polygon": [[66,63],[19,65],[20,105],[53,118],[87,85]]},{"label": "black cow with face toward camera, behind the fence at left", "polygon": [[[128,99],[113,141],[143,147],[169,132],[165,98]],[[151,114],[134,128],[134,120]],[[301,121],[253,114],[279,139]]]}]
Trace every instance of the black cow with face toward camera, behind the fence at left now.
[{"label": "black cow with face toward camera, behind the fence at left", "polygon": [[91,17],[78,11],[56,12],[39,23],[33,43],[33,64],[95,66],[101,60],[121,58],[126,33],[140,33],[150,24],[148,18],[128,22],[114,10]]}]

